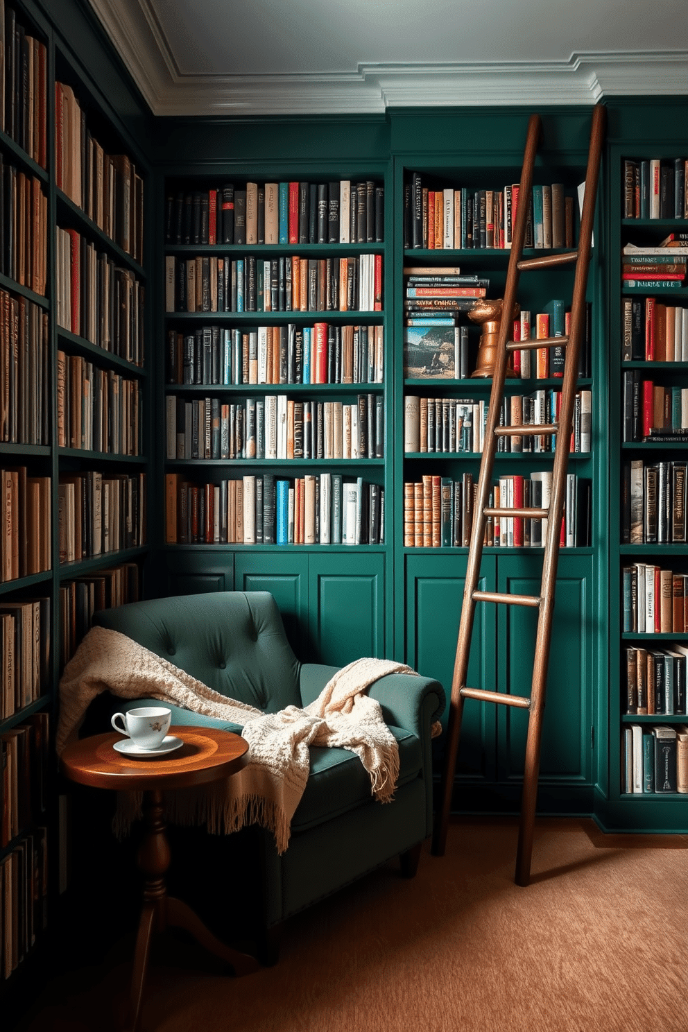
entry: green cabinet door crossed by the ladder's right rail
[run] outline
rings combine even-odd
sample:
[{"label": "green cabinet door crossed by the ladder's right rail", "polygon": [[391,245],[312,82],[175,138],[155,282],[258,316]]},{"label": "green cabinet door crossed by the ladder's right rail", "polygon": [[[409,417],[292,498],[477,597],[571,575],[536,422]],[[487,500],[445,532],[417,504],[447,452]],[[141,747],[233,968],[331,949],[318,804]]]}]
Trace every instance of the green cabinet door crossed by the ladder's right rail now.
[{"label": "green cabinet door crossed by the ladder's right rail", "polygon": [[[499,591],[538,594],[540,555],[499,559]],[[552,644],[543,721],[540,781],[590,781],[592,716],[591,583],[592,557],[560,554],[552,623]],[[500,685],[529,696],[537,613],[523,606],[500,606],[498,637]],[[527,717],[521,710],[500,707],[500,780],[523,773]]]}]

